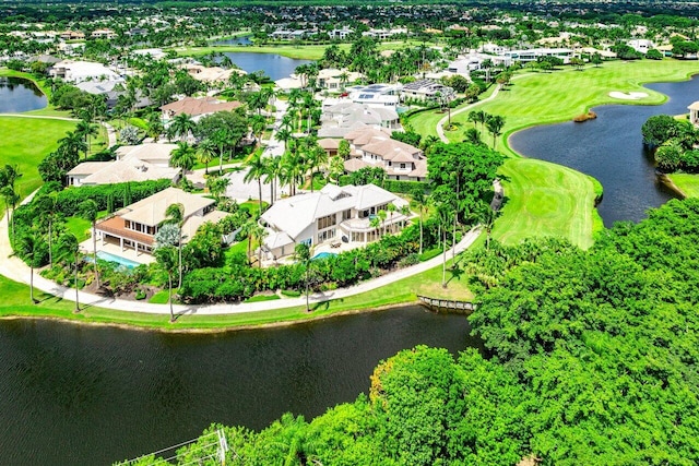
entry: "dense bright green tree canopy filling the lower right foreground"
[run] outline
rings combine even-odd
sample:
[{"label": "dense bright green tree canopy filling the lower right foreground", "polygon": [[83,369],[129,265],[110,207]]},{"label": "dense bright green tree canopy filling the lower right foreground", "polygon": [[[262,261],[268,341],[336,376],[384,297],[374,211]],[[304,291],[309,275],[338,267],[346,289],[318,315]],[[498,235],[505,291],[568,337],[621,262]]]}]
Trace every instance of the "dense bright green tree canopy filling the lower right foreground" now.
[{"label": "dense bright green tree canopy filling the lower right foreground", "polygon": [[483,354],[401,351],[354,403],[225,428],[226,464],[697,464],[698,235],[699,200],[671,201],[589,251],[543,239],[473,253]]}]

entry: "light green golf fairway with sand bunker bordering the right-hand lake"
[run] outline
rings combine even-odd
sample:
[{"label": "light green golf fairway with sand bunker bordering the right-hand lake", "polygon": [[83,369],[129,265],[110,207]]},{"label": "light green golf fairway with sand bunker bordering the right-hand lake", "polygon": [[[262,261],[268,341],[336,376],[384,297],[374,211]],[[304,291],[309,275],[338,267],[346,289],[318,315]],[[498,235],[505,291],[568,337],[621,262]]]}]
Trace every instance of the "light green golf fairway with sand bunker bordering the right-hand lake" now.
[{"label": "light green golf fairway with sand bunker bordering the right-hand lake", "polygon": [[[641,84],[680,81],[698,72],[696,61],[670,59],[614,61],[583,71],[523,72],[497,98],[476,106],[476,109],[505,117],[506,126],[497,150],[511,157],[500,169],[507,203],[496,220],[494,238],[516,243],[531,236],[562,236],[581,248],[589,248],[593,234],[602,227],[593,208],[594,200],[602,191],[601,184],[567,167],[521,158],[508,145],[510,134],[535,124],[569,121],[590,107],[603,104],[662,104],[665,96],[641,87]],[[636,101],[618,100],[608,96],[612,91],[644,92],[648,97]],[[411,118],[410,122],[425,135],[436,134],[438,117],[441,116],[424,112]],[[451,141],[462,140],[463,131],[473,128],[467,118],[467,111],[457,116],[452,112],[452,120],[462,123],[462,131],[447,132]],[[477,129],[481,131],[479,126]],[[491,143],[487,130],[482,138]]]}]

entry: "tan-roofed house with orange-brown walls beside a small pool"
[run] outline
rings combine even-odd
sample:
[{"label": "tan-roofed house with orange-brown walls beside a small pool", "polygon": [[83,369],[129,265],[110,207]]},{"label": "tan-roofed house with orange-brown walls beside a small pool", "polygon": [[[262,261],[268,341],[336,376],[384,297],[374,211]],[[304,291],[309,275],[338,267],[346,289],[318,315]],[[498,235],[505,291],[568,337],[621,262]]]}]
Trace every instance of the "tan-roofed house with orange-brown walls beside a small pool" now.
[{"label": "tan-roofed house with orange-brown walls beside a small pool", "polygon": [[155,235],[166,220],[165,211],[173,204],[185,208],[182,242],[188,242],[197,229],[206,222],[217,223],[226,215],[216,211],[216,201],[197,194],[190,194],[177,188],[167,188],[150,198],[117,211],[112,216],[96,226],[100,244],[118,246],[121,251],[132,249],[137,253],[152,253],[155,248]]}]

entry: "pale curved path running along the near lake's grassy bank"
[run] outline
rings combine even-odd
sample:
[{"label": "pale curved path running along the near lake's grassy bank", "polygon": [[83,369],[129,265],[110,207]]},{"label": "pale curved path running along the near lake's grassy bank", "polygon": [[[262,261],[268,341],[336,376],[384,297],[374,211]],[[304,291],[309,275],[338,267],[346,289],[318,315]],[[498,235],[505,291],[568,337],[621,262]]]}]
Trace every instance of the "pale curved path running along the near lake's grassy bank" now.
[{"label": "pale curved path running along the near lake's grassy bank", "polygon": [[[19,258],[12,255],[12,248],[10,247],[9,238],[9,217],[5,215],[0,223],[0,274],[14,280],[29,284],[31,270]],[[470,230],[462,240],[455,246],[455,254],[466,250],[481,235],[479,227]],[[448,250],[448,254],[452,254],[452,250]],[[363,282],[358,285],[335,289],[329,292],[315,294],[310,296],[309,301],[311,303],[330,301],[333,299],[347,298],[354,295],[358,295],[365,291],[379,288],[384,285],[392,284],[402,278],[406,278],[418,273],[425,272],[429,268],[439,266],[441,264],[442,256],[439,254],[428,261],[413,265],[411,267],[401,268],[390,274],[380,276],[378,278]],[[67,301],[74,301],[75,290],[72,288],[66,288],[51,280],[42,277],[38,273],[34,274],[34,287],[42,291],[51,294]],[[84,291],[79,291],[79,300],[81,306],[97,306],[106,309],[114,309],[118,311],[129,312],[145,312],[153,314],[169,314],[169,307],[167,304],[153,304],[142,301],[128,301],[125,299],[108,298],[98,295],[93,295]],[[28,301],[28,297],[27,297]],[[178,314],[194,314],[194,315],[214,315],[214,314],[233,314],[242,312],[259,312],[269,311],[274,309],[285,309],[306,306],[306,298],[284,298],[273,301],[259,301],[259,302],[245,302],[245,303],[220,303],[220,304],[200,304],[200,306],[174,306],[175,313]]]}]

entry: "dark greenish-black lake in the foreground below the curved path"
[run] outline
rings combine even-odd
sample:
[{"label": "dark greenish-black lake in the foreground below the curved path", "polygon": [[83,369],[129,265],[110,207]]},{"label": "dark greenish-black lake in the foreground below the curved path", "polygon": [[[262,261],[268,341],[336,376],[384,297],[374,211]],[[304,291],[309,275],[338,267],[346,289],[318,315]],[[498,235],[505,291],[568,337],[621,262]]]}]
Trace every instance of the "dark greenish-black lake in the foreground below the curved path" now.
[{"label": "dark greenish-black lake in the foreground below the curved path", "polygon": [[477,347],[469,332],[463,315],[419,307],[213,335],[0,321],[1,463],[111,464],[211,422],[310,419],[368,393],[381,359]]}]

